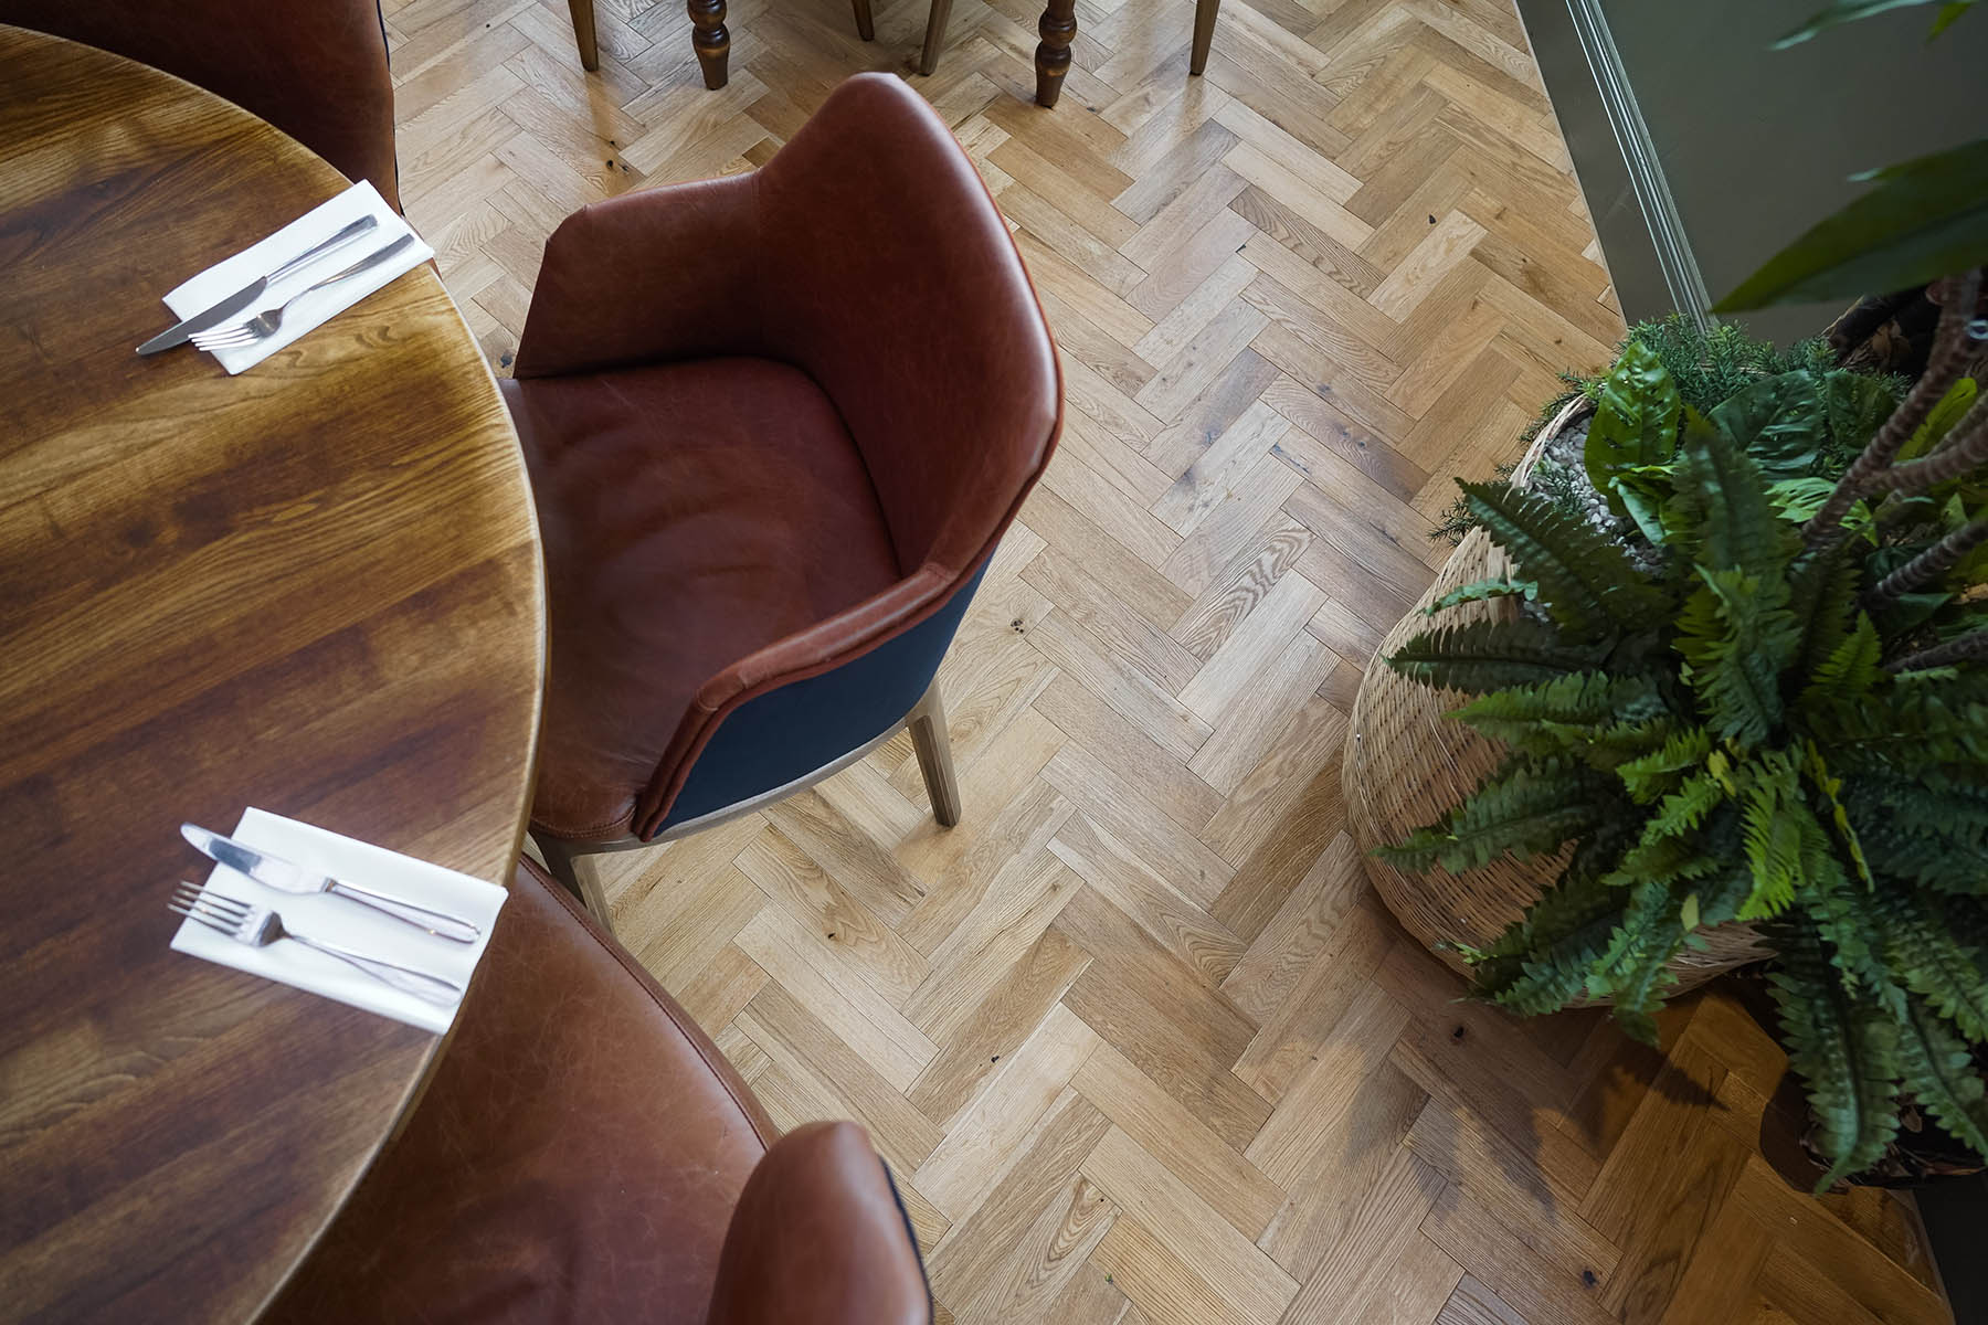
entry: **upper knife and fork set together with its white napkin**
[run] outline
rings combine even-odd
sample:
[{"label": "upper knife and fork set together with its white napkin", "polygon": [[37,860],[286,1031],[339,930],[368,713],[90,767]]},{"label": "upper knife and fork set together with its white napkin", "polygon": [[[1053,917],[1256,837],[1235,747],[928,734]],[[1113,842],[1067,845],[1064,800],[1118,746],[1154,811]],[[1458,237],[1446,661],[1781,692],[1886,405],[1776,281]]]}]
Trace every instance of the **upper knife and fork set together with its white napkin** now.
[{"label": "upper knife and fork set together with its white napkin", "polygon": [[181,322],[137,352],[191,342],[233,375],[433,256],[380,191],[360,181],[171,290],[165,306]]}]

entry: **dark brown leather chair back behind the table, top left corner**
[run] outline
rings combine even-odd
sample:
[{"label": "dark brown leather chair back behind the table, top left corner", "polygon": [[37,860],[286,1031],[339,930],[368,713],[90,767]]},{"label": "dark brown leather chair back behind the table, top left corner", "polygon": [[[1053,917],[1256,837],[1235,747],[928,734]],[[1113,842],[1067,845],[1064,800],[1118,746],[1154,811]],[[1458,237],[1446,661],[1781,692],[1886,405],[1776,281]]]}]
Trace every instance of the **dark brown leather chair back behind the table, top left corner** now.
[{"label": "dark brown leather chair back behind the table, top left corner", "polygon": [[378,0],[0,0],[34,28],[177,74],[260,115],[400,211]]}]

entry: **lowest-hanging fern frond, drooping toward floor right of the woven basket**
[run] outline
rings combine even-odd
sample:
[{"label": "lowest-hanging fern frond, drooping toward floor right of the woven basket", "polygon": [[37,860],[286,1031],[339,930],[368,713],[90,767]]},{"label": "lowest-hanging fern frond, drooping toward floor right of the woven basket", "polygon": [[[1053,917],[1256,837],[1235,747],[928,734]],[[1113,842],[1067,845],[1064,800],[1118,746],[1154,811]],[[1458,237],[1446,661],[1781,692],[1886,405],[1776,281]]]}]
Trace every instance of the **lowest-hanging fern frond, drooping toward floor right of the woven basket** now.
[{"label": "lowest-hanging fern frond, drooping toward floor right of the woven basket", "polygon": [[1775,934],[1781,969],[1769,977],[1781,1009],[1787,1065],[1809,1089],[1809,1112],[1831,1168],[1815,1184],[1827,1192],[1843,1174],[1869,1168],[1899,1130],[1899,1025],[1883,1009],[1843,989],[1807,924]]}]

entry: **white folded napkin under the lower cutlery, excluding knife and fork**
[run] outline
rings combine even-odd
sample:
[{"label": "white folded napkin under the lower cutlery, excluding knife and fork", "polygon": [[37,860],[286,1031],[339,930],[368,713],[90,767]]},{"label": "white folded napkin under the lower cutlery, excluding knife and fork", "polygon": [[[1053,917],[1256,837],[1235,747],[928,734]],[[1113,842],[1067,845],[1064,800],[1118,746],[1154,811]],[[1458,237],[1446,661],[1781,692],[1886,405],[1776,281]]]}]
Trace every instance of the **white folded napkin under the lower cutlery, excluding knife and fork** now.
[{"label": "white folded napkin under the lower cutlery, excluding knife and fork", "polygon": [[[205,880],[211,892],[235,898],[237,902],[272,908],[282,916],[284,930],[308,934],[340,948],[352,948],[368,957],[427,971],[463,989],[469,987],[469,975],[477,969],[483,948],[489,944],[491,928],[497,924],[497,910],[509,896],[497,884],[487,884],[481,878],[443,870],[439,864],[402,856],[384,846],[358,842],[254,807],[243,810],[241,822],[229,836],[308,870],[320,870],[332,878],[402,902],[461,916],[477,926],[483,934],[475,944],[457,944],[423,934],[402,920],[384,916],[370,906],[360,906],[352,898],[332,892],[304,896],[276,892],[223,864],[213,866]],[[201,876],[189,870],[189,878]],[[173,950],[296,985],[298,989],[310,989],[328,999],[429,1029],[435,1035],[447,1031],[455,1019],[455,1007],[425,1003],[338,957],[312,952],[290,940],[276,940],[268,948],[250,948],[187,920],[173,934]],[[461,999],[457,999],[457,1005],[461,1005]]]}]

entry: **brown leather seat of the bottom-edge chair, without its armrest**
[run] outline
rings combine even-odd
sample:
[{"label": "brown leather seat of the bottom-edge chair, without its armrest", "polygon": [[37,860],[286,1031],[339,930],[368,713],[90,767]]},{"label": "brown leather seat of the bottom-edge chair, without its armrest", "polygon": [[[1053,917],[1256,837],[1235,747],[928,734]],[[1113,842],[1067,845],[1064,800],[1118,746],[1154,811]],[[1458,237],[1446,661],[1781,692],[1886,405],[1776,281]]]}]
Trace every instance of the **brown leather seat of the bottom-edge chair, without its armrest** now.
[{"label": "brown leather seat of the bottom-edge chair, without its armrest", "polygon": [[773,1124],[529,862],[427,1093],[264,1323],[702,1321]]}]

